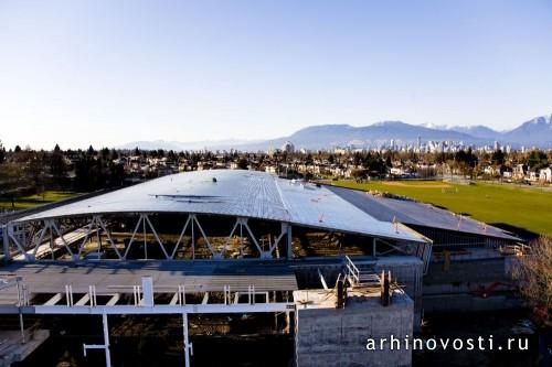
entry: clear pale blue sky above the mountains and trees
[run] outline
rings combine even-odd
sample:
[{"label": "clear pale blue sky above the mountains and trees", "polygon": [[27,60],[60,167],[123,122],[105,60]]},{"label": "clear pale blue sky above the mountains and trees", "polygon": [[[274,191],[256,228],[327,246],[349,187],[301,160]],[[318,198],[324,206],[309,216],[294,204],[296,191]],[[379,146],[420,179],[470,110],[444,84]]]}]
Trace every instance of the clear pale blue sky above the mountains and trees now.
[{"label": "clear pale blue sky above the mountains and trees", "polygon": [[0,0],[7,147],[550,112],[550,0]]}]

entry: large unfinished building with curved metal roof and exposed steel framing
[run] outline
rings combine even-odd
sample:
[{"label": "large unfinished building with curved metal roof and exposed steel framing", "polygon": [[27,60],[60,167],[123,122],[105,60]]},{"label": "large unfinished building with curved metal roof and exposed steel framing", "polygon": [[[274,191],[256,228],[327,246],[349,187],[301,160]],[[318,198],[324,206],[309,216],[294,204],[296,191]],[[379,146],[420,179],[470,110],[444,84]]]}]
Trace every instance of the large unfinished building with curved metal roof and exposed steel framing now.
[{"label": "large unfinished building with curved metal roof and exposed steel framing", "polygon": [[408,366],[410,350],[369,352],[365,339],[420,327],[434,242],[497,251],[519,239],[481,224],[476,231],[470,219],[453,225],[446,211],[418,218],[404,203],[383,204],[215,170],[11,216],[2,227],[0,314],[13,330],[0,332],[0,357],[6,365],[32,358],[56,325],[77,320],[66,327],[103,326],[79,337],[82,360],[100,354],[107,366],[124,364],[129,346],[110,341],[121,317],[142,317],[159,331],[178,323],[171,339],[185,366],[224,360],[215,352],[232,335],[232,348],[264,338],[277,346],[244,357],[250,364]]}]

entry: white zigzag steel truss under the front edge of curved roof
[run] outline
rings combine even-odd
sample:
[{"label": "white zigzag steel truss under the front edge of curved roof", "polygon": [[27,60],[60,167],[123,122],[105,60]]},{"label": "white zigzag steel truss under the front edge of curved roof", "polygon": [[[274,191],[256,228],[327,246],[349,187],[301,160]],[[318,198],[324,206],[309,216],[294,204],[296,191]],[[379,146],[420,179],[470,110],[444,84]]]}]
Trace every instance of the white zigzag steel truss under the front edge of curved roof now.
[{"label": "white zigzag steel truss under the front edge of curved roof", "polygon": [[[191,250],[192,250],[192,259],[195,259],[195,249],[197,249],[197,240],[198,238],[203,238],[212,259],[220,260],[224,259],[226,255],[226,250],[230,246],[230,242],[233,237],[240,238],[240,250],[241,256],[243,256],[243,246],[244,238],[248,238],[258,253],[258,258],[261,259],[272,259],[275,257],[275,251],[284,240],[286,242],[286,251],[284,253],[285,257],[291,258],[291,225],[288,223],[280,223],[280,233],[275,238],[274,242],[268,244],[268,248],[265,249],[261,246],[259,239],[253,233],[251,226],[248,225],[248,218],[245,217],[236,217],[234,225],[226,237],[224,245],[221,248],[215,248],[214,245],[211,244],[209,237],[201,225],[197,214],[189,214],[182,226],[182,230],[178,238],[177,244],[172,251],[168,251],[166,244],[161,240],[156,227],[151,223],[149,218],[149,214],[140,213],[138,215],[138,220],[134,227],[134,230],[130,236],[130,240],[124,251],[119,251],[113,236],[108,229],[108,225],[106,220],[100,215],[93,215],[89,218],[89,222],[79,226],[78,228],[74,228],[73,231],[62,231],[59,227],[56,219],[44,219],[31,223],[33,225],[33,231],[29,231],[26,227],[29,224],[23,224],[22,226],[15,226],[11,223],[7,224],[2,227],[3,234],[3,252],[4,259],[17,259],[17,260],[25,260],[25,261],[39,261],[45,256],[50,255],[52,260],[55,260],[55,252],[63,248],[71,256],[73,261],[81,261],[83,259],[83,250],[86,245],[86,241],[92,239],[93,236],[96,236],[97,242],[97,252],[98,259],[102,255],[102,236],[105,235],[107,238],[107,245],[110,249],[113,249],[117,256],[115,260],[129,260],[128,255],[132,247],[132,245],[138,241],[137,235],[141,231],[144,236],[144,258],[140,260],[148,260],[148,241],[147,235],[148,233],[152,234],[157,245],[161,249],[164,260],[173,260],[178,250],[184,248],[183,238],[187,231],[191,235]],[[199,229],[199,234],[197,234],[195,228]],[[75,234],[78,231],[78,236],[76,239],[67,240],[66,237],[68,234]],[[199,235],[199,237],[198,237]],[[77,244],[79,242],[79,245]]]}]

